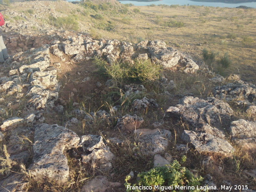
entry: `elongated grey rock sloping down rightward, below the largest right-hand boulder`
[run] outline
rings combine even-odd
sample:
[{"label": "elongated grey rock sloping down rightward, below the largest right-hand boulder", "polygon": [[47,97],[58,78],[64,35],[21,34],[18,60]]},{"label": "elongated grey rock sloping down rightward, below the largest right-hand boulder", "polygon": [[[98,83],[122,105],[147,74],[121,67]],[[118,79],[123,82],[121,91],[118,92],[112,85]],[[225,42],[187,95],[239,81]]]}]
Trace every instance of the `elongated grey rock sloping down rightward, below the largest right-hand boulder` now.
[{"label": "elongated grey rock sloping down rightward, below the largest right-hand boulder", "polygon": [[214,137],[208,133],[196,133],[184,130],[181,138],[193,145],[199,153],[210,153],[218,156],[232,157],[235,149],[228,141]]}]

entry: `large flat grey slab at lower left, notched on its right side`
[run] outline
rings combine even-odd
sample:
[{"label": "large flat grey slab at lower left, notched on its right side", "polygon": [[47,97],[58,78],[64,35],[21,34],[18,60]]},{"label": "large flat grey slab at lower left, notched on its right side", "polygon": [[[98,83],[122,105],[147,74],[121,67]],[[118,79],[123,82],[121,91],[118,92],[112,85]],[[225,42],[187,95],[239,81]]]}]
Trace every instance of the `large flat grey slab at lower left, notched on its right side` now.
[{"label": "large flat grey slab at lower left, notched on its right side", "polygon": [[52,180],[60,185],[68,181],[68,159],[64,151],[78,146],[80,138],[75,132],[58,125],[37,124],[33,161],[29,166],[33,180]]}]

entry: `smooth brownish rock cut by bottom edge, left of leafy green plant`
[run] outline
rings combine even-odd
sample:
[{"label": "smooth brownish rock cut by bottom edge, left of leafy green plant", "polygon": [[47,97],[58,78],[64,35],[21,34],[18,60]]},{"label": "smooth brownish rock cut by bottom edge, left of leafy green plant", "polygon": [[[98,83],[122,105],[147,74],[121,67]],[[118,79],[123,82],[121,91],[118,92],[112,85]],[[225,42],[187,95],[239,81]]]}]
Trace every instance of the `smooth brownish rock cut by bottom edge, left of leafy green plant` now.
[{"label": "smooth brownish rock cut by bottom edge, left of leafy green plant", "polygon": [[82,189],[81,192],[106,192],[106,191],[115,191],[112,190],[115,187],[121,186],[121,183],[113,183],[108,181],[107,177],[105,176],[99,176],[93,180],[90,180],[86,182]]}]

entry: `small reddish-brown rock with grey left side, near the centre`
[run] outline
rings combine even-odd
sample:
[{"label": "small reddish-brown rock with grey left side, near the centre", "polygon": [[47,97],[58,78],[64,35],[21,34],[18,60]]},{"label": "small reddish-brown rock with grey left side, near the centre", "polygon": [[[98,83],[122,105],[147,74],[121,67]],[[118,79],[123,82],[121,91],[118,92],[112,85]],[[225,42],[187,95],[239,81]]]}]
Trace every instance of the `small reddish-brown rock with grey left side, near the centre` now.
[{"label": "small reddish-brown rock with grey left side, near the centre", "polygon": [[126,114],[122,118],[117,120],[117,124],[115,129],[119,130],[130,130],[133,131],[135,129],[138,129],[140,127],[140,124],[143,123],[143,119],[138,116],[131,116],[129,114]]}]

